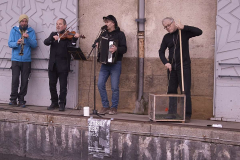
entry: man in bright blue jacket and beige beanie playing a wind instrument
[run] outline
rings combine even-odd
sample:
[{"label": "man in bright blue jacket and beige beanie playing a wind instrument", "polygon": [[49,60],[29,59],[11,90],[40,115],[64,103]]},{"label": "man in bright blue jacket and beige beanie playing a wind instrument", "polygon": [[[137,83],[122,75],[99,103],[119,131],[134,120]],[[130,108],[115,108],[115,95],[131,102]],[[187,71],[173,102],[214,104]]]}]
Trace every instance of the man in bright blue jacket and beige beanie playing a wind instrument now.
[{"label": "man in bright blue jacket and beige beanie playing a wind instrument", "polygon": [[[37,47],[35,31],[28,27],[28,19],[26,14],[20,15],[19,26],[12,28],[8,39],[8,46],[12,48],[12,91],[9,105],[23,108],[26,107],[24,97],[27,94],[31,72],[31,50]],[[19,77],[21,77],[20,91],[18,91]]]}]

